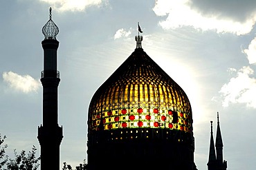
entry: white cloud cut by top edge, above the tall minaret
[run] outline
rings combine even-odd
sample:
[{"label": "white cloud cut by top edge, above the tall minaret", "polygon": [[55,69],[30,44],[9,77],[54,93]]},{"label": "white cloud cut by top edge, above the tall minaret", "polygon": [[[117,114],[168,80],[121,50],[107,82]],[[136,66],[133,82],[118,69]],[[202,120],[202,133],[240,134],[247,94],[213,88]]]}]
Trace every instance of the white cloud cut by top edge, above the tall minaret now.
[{"label": "white cloud cut by top edge, above the tall minaret", "polygon": [[107,0],[39,0],[48,3],[55,9],[60,11],[66,10],[77,10],[82,11],[89,6],[100,6],[104,1]]}]

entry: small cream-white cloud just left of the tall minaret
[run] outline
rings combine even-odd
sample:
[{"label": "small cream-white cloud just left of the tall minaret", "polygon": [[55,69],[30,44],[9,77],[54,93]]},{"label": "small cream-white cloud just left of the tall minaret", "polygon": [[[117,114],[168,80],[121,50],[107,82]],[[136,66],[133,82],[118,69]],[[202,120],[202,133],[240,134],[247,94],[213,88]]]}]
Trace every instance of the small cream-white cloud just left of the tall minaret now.
[{"label": "small cream-white cloud just left of the tall minaret", "polygon": [[29,93],[37,92],[40,87],[39,81],[29,75],[21,76],[15,72],[3,72],[3,81],[17,91]]}]

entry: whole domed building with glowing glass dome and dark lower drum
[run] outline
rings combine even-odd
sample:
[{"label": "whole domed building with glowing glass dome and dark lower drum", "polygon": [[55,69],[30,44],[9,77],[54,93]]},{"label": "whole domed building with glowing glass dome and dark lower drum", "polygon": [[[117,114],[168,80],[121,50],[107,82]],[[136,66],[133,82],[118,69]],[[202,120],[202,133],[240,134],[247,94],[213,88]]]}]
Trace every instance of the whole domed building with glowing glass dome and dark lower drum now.
[{"label": "whole domed building with glowing glass dome and dark lower drum", "polygon": [[[141,47],[95,92],[89,105],[89,170],[195,170],[188,96]],[[170,66],[172,63],[170,63]]]}]

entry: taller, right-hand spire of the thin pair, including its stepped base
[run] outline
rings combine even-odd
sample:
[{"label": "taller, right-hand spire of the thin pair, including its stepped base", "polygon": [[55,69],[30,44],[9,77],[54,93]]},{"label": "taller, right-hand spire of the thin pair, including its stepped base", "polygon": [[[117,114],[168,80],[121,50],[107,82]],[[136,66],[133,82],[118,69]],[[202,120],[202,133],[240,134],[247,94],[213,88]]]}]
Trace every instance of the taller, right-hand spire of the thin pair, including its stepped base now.
[{"label": "taller, right-hand spire of the thin pair, including its stepped base", "polygon": [[226,169],[227,162],[226,160],[223,161],[223,142],[221,138],[221,127],[219,125],[219,112],[217,112],[217,134],[216,134],[216,153],[217,153],[217,164],[218,169]]}]

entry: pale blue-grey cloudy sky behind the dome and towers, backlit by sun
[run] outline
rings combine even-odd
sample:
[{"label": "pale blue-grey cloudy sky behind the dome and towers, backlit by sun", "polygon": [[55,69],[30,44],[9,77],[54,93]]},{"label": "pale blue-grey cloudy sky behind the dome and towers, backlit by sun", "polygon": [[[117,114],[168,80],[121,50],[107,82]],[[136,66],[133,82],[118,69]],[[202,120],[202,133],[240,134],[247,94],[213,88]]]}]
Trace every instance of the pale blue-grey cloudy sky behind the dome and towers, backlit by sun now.
[{"label": "pale blue-grey cloudy sky behind the dome and towers, backlit by sun", "polygon": [[254,170],[256,158],[255,0],[0,0],[0,134],[7,153],[39,154],[44,40],[57,40],[60,164],[86,159],[87,111],[94,92],[134,52],[143,50],[178,83],[192,105],[194,162],[207,169],[210,120],[217,111],[228,169]]}]

